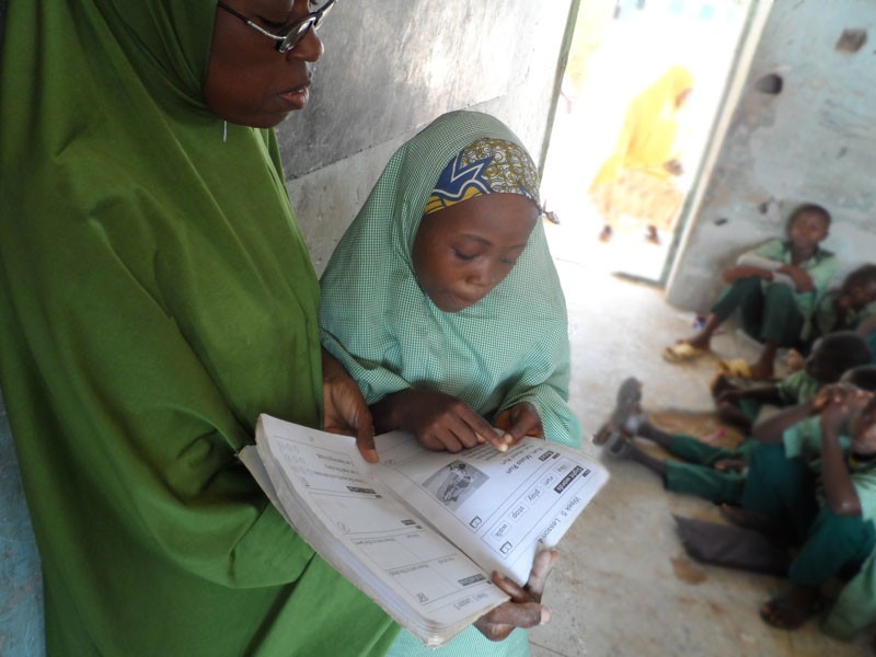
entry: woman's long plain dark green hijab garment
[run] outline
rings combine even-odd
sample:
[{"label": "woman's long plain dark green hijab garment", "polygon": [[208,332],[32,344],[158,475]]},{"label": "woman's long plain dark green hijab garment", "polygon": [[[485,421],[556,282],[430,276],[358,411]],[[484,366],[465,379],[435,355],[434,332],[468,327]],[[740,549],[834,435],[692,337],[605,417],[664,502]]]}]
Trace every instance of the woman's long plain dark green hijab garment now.
[{"label": "woman's long plain dark green hijab garment", "polygon": [[382,654],[235,458],[260,412],[321,422],[319,287],[273,130],[203,101],[215,11],[7,8],[0,387],[48,653]]}]

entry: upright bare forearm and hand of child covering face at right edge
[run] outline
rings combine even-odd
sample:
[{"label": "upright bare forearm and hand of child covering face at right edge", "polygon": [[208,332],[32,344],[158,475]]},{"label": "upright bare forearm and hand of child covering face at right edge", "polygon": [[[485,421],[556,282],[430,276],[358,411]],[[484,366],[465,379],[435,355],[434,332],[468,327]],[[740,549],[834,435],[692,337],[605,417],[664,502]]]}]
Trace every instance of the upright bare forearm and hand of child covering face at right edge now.
[{"label": "upright bare forearm and hand of child covering face at right edge", "polygon": [[846,385],[832,385],[821,412],[821,480],[830,509],[838,516],[860,516],[861,498],[852,483],[840,447],[840,429],[852,415],[863,408],[869,393]]}]

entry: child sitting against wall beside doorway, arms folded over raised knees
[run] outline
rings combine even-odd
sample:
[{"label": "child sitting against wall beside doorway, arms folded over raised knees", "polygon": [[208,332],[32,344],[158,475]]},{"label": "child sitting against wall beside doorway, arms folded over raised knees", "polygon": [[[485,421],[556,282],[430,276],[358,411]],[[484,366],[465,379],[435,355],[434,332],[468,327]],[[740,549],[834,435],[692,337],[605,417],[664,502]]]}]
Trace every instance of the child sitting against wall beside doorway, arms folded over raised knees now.
[{"label": "child sitting against wall beside doorway, arms folded over raised knees", "polygon": [[796,208],[788,217],[788,239],[770,240],[724,269],[729,287],[702,330],[667,347],[664,358],[681,362],[706,354],[712,335],[738,309],[742,330],[763,343],[749,378],[772,378],[779,347],[799,347],[809,338],[811,315],[837,273],[837,257],[820,246],[829,228],[830,214],[821,206]]}]

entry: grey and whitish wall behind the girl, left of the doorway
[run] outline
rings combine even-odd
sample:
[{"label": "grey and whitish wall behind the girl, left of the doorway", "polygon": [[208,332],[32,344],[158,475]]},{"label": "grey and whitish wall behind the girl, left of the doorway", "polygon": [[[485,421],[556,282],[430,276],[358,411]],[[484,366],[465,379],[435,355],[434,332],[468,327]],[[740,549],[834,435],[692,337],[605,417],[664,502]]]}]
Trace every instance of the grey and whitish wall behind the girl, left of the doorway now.
[{"label": "grey and whitish wall behind the girl, left of the doorway", "polygon": [[[344,0],[310,106],[279,128],[318,273],[399,146],[445,112],[504,120],[540,162],[572,0]],[[313,168],[313,163],[319,163]]]}]

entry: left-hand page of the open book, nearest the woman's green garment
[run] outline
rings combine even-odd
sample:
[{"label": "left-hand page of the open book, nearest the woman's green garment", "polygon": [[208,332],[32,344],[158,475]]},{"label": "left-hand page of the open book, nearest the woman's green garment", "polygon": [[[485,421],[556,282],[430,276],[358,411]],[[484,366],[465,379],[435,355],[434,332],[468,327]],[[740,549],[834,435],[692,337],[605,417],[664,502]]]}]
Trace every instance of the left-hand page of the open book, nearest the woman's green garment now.
[{"label": "left-hand page of the open book, nearest the woman's green garment", "polygon": [[256,446],[281,512],[301,537],[427,645],[508,599],[483,568],[369,480],[354,438],[263,415]]}]

